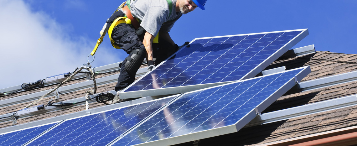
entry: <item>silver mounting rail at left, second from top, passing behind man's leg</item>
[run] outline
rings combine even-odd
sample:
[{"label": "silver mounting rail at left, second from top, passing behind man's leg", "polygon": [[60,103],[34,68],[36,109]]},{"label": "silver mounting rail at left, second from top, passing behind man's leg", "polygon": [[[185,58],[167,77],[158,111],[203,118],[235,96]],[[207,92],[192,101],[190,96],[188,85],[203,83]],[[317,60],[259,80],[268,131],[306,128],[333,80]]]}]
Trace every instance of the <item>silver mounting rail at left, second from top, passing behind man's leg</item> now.
[{"label": "silver mounting rail at left, second from top, passing behind man's leg", "polygon": [[[147,72],[147,67],[141,68],[137,71],[136,76],[142,76],[146,72]],[[118,77],[119,77],[119,74],[101,77],[101,78],[96,79],[96,84],[97,84],[97,86],[99,86],[99,85],[104,85],[104,84],[108,84],[111,82],[116,82],[118,80]],[[77,84],[62,86],[62,87],[59,87],[57,90],[58,90],[59,94],[66,94],[66,93],[74,92],[77,90],[90,88],[92,86],[93,86],[93,80],[90,80],[90,81],[80,82]],[[45,90],[45,91],[39,91],[39,92],[35,92],[32,94],[12,97],[10,99],[1,100],[0,107],[36,100],[51,90],[52,89]],[[50,97],[50,96],[55,96],[55,93],[49,94],[47,97]]]}]

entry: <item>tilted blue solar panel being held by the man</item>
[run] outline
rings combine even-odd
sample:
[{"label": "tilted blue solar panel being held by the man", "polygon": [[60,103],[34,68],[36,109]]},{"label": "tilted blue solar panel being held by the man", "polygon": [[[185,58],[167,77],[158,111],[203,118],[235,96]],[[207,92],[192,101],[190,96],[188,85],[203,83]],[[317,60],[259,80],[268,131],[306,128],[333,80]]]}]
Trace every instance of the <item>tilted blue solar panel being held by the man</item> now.
[{"label": "tilted blue solar panel being held by the man", "polygon": [[126,99],[177,94],[249,79],[307,34],[303,29],[198,38],[119,95]]}]

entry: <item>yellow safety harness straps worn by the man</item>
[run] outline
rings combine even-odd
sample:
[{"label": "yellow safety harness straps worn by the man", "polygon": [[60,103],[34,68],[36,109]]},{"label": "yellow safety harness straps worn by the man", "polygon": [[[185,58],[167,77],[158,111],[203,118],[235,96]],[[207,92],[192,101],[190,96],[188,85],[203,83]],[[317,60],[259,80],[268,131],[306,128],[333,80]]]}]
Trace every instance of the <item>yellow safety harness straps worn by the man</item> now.
[{"label": "yellow safety harness straps worn by the man", "polygon": [[[171,11],[172,11],[172,2],[171,2],[171,0],[167,0],[167,2],[169,4],[169,9],[170,9],[169,16],[170,16],[171,15]],[[130,7],[130,0],[127,0],[127,1],[123,2],[116,9],[116,11],[118,11],[119,9],[122,9],[125,6],[125,4],[127,4],[127,6]],[[137,18],[135,18],[135,19],[139,21],[139,19],[137,19]],[[112,31],[113,31],[114,27],[119,25],[119,24],[121,24],[121,23],[131,24],[131,20],[129,18],[127,18],[127,17],[118,17],[117,19],[115,19],[113,21],[113,23],[110,25],[110,27],[108,29],[108,35],[109,35],[110,42],[111,42],[112,46],[114,48],[116,48],[116,49],[121,49],[121,48],[114,44],[115,41],[112,39],[111,34],[112,34]],[[102,30],[99,32],[100,38],[97,40],[97,44],[95,45],[95,47],[94,47],[94,49],[93,49],[93,51],[91,52],[90,55],[93,56],[95,54],[95,52],[97,51],[98,46],[102,43],[103,38],[104,38],[104,36],[106,34],[106,27],[107,27],[107,23],[104,24]],[[155,44],[159,43],[159,33],[157,33],[157,35],[155,36],[153,43],[155,43]]]}]

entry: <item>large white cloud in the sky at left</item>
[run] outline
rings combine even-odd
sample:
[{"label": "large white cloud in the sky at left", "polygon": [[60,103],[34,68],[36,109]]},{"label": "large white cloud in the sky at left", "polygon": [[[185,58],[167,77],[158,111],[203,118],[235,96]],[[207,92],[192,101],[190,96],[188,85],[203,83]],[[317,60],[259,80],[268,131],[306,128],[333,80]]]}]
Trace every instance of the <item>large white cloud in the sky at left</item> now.
[{"label": "large white cloud in the sky at left", "polygon": [[[70,38],[64,29],[21,0],[1,0],[0,89],[71,72],[85,63],[95,42],[82,36]],[[101,56],[106,60],[96,60],[97,64],[118,61],[110,52]]]}]

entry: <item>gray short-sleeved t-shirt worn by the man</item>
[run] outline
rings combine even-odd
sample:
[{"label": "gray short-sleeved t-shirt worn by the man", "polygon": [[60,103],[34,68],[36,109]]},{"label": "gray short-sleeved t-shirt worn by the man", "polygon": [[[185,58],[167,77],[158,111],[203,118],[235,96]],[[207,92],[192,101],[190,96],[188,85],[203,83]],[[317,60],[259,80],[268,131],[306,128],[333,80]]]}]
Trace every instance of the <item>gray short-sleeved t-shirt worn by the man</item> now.
[{"label": "gray short-sleeved t-shirt worn by the man", "polygon": [[167,0],[131,0],[131,15],[141,20],[140,26],[151,35],[156,36],[160,31],[169,32],[177,19],[182,16],[176,14],[176,0],[172,1],[171,15]]}]

